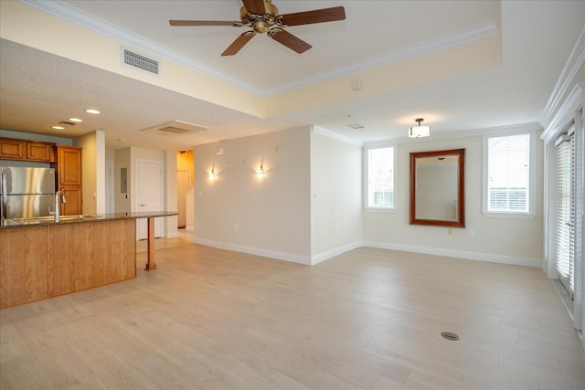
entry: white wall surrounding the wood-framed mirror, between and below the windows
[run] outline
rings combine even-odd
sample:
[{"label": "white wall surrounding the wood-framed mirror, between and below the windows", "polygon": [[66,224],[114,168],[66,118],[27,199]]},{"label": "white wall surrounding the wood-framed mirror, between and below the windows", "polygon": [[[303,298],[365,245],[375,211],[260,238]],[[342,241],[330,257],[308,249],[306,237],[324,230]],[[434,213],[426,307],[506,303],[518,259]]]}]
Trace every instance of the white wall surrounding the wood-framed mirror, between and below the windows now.
[{"label": "white wall surrounding the wood-framed mirror, between and below the windows", "polygon": [[[534,219],[482,215],[482,136],[398,145],[397,210],[364,211],[364,245],[539,267],[543,258],[543,146],[537,142],[537,216]],[[465,227],[409,224],[410,153],[465,149]],[[473,237],[467,229],[473,229]],[[449,234],[449,232],[452,234]]]}]

